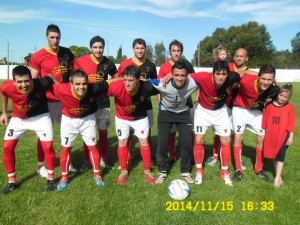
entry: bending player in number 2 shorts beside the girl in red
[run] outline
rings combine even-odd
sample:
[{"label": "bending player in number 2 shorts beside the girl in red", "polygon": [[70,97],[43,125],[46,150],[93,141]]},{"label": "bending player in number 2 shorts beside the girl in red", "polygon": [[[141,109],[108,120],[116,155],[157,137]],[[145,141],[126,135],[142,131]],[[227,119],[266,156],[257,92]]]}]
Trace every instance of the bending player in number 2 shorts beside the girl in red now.
[{"label": "bending player in number 2 shorts beside the girl in red", "polygon": [[245,128],[256,134],[256,160],[254,173],[264,181],[270,178],[263,171],[263,140],[265,131],[262,129],[262,110],[265,103],[275,99],[279,87],[274,85],[275,68],[269,64],[261,66],[258,77],[244,76],[240,88],[233,101],[232,121],[234,129],[234,160],[236,172],[233,179],[240,181],[243,177],[242,141]]}]

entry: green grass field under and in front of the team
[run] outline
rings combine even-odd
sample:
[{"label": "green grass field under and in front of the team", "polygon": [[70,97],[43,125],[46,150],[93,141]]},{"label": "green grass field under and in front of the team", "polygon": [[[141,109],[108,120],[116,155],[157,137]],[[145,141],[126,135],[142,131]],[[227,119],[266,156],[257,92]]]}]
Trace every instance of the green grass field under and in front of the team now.
[{"label": "green grass field under and in front of the team", "polygon": [[[253,173],[256,138],[249,132],[245,133],[243,150],[243,161],[247,170],[244,172],[243,180],[235,182],[233,187],[225,185],[219,179],[219,163],[215,167],[210,167],[206,163],[203,184],[189,185],[191,195],[184,201],[174,201],[169,197],[167,189],[173,179],[180,178],[179,163],[164,184],[150,186],[143,177],[138,144],[133,149],[128,181],[124,186],[118,186],[116,179],[120,171],[117,169],[117,138],[113,122],[109,129],[109,161],[114,164],[115,169],[102,170],[105,186],[100,188],[94,184],[93,172],[90,170],[83,174],[71,175],[72,180],[64,191],[47,193],[46,180],[36,174],[36,135],[28,132],[16,149],[17,179],[21,182],[21,186],[9,195],[0,196],[0,224],[298,224],[300,220],[298,96],[300,83],[294,83],[292,103],[297,109],[297,130],[294,145],[287,152],[282,174],[285,183],[281,188],[274,188],[273,183],[266,183]],[[153,102],[156,105],[155,98]],[[157,115],[156,111],[157,109],[154,115]],[[0,127],[1,138],[4,136],[5,128]],[[152,130],[154,148],[156,134],[154,126]],[[209,130],[205,143],[205,161],[212,155],[212,139],[213,135]],[[55,125],[54,141],[57,165],[55,172],[58,182],[61,151],[58,125]],[[1,158],[2,154],[1,150]],[[81,138],[77,138],[72,158],[74,166],[79,169],[84,162]],[[157,177],[157,167],[153,166],[152,169]],[[264,169],[273,179],[274,170],[271,161],[265,161]],[[234,173],[232,165],[230,172]],[[7,177],[1,160],[1,190],[6,184]]]}]

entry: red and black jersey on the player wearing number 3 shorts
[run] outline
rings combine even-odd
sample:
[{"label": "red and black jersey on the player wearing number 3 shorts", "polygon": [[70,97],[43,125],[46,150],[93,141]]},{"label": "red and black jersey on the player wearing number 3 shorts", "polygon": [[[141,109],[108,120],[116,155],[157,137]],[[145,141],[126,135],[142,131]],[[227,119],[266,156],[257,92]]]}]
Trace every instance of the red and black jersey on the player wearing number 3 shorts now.
[{"label": "red and black jersey on the player wearing number 3 shorts", "polygon": [[5,81],[1,86],[1,93],[12,101],[12,117],[27,119],[47,113],[46,92],[51,89],[53,81],[49,76],[33,79],[33,89],[29,94],[23,94],[17,89],[13,80]]}]

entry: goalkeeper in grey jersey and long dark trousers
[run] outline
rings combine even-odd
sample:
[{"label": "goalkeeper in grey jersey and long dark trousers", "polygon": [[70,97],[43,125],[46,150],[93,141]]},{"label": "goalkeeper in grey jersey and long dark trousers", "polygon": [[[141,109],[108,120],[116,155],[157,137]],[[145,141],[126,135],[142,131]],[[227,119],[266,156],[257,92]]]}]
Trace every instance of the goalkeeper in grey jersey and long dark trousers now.
[{"label": "goalkeeper in grey jersey and long dark trousers", "polygon": [[172,126],[175,124],[181,143],[181,176],[188,182],[194,183],[191,176],[193,143],[192,119],[190,116],[189,98],[199,89],[192,78],[188,78],[187,66],[177,61],[172,66],[172,79],[166,84],[159,80],[150,80],[160,93],[158,112],[158,146],[156,158],[160,175],[156,183],[163,183],[170,170],[168,158],[168,143]]}]

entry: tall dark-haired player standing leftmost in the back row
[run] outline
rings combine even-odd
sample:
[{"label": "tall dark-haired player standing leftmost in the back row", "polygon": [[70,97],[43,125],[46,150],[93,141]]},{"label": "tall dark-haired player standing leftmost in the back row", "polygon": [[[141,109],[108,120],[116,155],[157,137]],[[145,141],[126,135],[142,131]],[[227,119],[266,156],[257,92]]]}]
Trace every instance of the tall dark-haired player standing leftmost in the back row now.
[{"label": "tall dark-haired player standing leftmost in the back row", "polygon": [[[46,39],[48,45],[34,53],[31,56],[31,74],[32,78],[45,77],[51,74],[60,83],[69,82],[69,72],[74,60],[74,55],[70,49],[59,45],[61,38],[60,29],[57,25],[50,24],[46,29]],[[61,103],[53,96],[51,92],[47,92],[48,109],[51,119],[60,123],[61,120]],[[44,154],[41,144],[37,143],[38,152],[38,173],[45,176],[44,171]],[[75,172],[75,170],[74,170]]]}]

